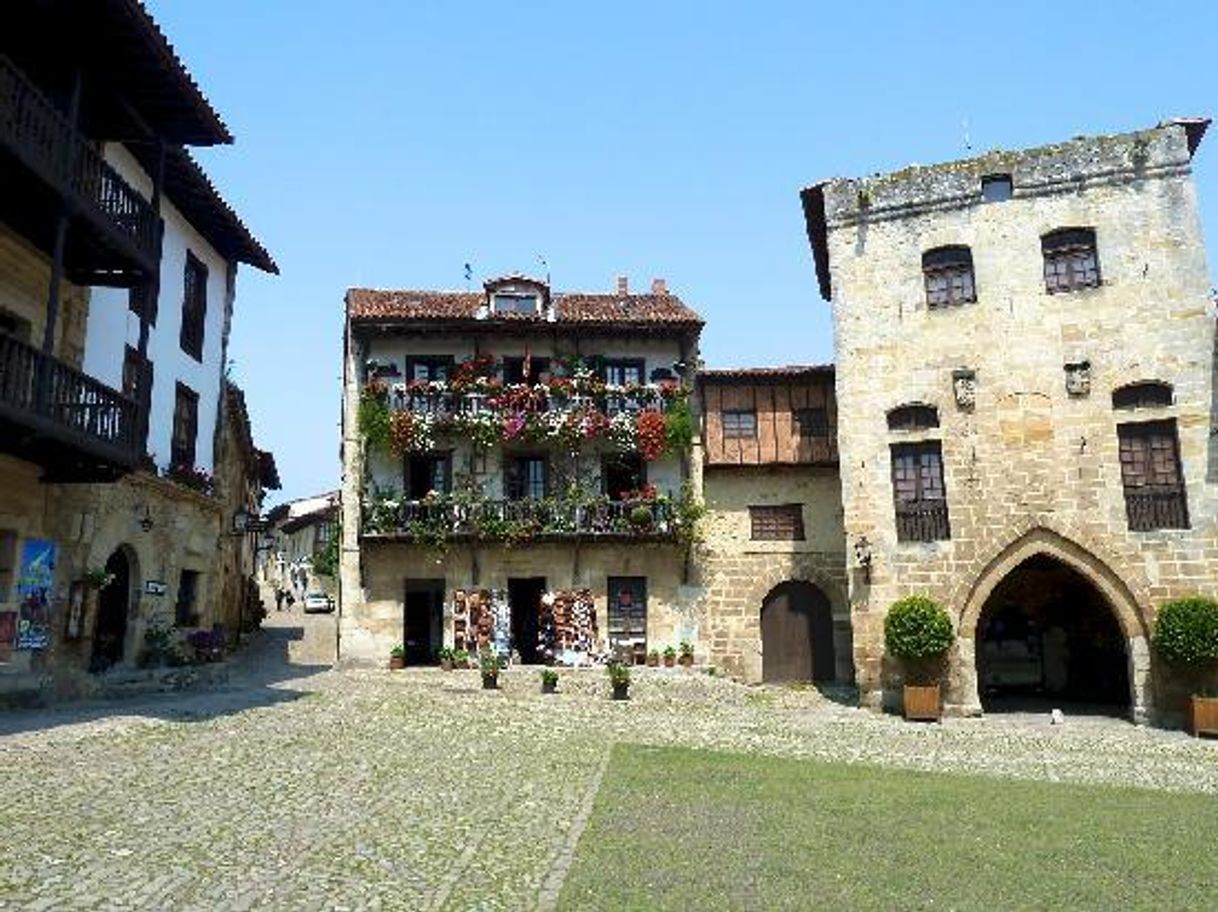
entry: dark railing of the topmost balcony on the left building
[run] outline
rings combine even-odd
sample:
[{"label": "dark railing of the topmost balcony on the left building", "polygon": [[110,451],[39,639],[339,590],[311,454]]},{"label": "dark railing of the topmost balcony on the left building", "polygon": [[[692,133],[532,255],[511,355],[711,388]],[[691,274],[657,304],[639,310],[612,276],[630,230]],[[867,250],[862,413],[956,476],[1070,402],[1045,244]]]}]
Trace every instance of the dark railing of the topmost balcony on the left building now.
[{"label": "dark railing of the topmost balcony on the left building", "polygon": [[67,118],[0,55],[0,145],[66,195],[143,267],[157,261],[157,216]]}]

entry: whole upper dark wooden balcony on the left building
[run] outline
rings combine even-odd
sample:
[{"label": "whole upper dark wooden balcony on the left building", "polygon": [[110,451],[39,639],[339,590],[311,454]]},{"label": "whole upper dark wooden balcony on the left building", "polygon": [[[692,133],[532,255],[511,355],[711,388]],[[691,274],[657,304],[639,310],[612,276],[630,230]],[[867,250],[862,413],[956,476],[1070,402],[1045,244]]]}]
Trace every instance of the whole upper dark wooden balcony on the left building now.
[{"label": "whole upper dark wooden balcony on the left building", "polygon": [[72,218],[65,265],[79,285],[130,286],[158,263],[158,217],[94,144],[0,55],[0,220],[50,256]]}]

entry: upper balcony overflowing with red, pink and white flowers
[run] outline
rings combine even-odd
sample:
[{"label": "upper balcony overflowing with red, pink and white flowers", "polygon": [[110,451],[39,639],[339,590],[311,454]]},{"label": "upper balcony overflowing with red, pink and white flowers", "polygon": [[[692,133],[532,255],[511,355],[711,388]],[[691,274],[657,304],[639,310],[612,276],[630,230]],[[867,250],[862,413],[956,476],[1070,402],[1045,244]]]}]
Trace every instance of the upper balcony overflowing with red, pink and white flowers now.
[{"label": "upper balcony overflowing with red, pink and white flowers", "polygon": [[373,380],[359,399],[359,427],[376,449],[396,455],[434,449],[457,435],[488,449],[515,441],[576,452],[605,441],[648,461],[693,443],[689,390],[678,382],[615,386],[591,371],[536,384],[504,384],[463,371],[449,380],[390,386]]}]

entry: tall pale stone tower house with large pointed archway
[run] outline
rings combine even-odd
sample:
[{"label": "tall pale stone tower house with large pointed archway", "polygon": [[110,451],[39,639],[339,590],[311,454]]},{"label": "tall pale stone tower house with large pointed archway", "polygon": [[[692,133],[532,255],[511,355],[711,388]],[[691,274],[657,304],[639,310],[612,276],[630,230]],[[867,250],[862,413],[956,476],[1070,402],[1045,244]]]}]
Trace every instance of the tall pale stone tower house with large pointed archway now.
[{"label": "tall pale stone tower house with large pointed archway", "polygon": [[1207,125],[803,191],[866,705],[899,700],[883,620],[924,593],[956,623],[950,710],[1177,709],[1155,615],[1218,583]]}]

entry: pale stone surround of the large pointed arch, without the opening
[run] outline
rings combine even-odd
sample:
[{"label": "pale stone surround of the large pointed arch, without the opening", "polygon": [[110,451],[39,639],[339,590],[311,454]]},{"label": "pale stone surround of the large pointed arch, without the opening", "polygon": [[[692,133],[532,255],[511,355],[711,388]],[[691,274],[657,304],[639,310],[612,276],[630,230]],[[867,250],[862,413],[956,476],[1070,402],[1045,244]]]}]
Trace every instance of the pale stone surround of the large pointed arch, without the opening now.
[{"label": "pale stone surround of the large pointed arch, without the opening", "polygon": [[[1150,623],[1129,586],[1102,560],[1082,545],[1046,528],[1034,528],[1004,548],[978,575],[963,600],[956,640],[956,660],[949,700],[965,712],[982,711],[978,679],[978,631],[1000,586],[1029,561],[1054,561],[1069,571],[1107,609],[1124,644],[1128,714],[1145,721],[1152,711],[1150,681]],[[993,609],[991,609],[993,610]]]}]

